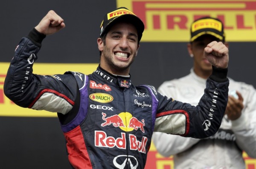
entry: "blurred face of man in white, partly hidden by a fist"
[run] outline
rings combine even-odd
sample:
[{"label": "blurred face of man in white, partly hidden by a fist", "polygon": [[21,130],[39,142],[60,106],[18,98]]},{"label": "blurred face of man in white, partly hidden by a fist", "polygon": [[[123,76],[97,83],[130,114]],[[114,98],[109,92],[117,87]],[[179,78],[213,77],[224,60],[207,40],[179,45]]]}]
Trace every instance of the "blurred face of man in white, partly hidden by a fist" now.
[{"label": "blurred face of man in white, partly hidden by a fist", "polygon": [[[212,74],[212,65],[209,61],[204,57],[204,48],[211,43],[212,41],[219,41],[216,37],[211,35],[202,35],[194,40],[192,43],[188,44],[189,54],[193,54],[194,57],[194,72],[199,77],[208,78],[209,75]],[[227,43],[225,43],[227,46]]]}]

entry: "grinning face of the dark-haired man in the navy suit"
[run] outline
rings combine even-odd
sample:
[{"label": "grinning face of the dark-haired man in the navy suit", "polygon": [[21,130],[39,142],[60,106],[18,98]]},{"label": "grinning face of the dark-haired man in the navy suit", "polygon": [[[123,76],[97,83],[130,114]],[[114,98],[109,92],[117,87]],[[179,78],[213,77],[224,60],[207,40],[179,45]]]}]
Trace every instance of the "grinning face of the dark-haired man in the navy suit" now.
[{"label": "grinning face of the dark-haired man in the navy suit", "polygon": [[108,31],[105,44],[101,38],[97,42],[101,51],[100,66],[112,74],[128,75],[140,47],[135,26],[116,23]]}]

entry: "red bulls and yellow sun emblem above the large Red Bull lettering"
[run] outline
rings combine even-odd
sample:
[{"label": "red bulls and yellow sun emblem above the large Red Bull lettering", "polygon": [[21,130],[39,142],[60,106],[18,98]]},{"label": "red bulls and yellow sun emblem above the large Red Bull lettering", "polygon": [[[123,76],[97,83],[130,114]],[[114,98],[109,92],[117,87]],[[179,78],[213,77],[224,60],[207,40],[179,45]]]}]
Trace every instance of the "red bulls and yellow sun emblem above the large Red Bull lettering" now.
[{"label": "red bulls and yellow sun emblem above the large Red Bull lettering", "polygon": [[108,126],[113,125],[114,127],[119,127],[125,132],[131,132],[133,130],[145,132],[143,126],[145,126],[144,119],[141,121],[138,120],[136,117],[133,117],[129,112],[122,112],[118,115],[112,115],[106,117],[107,115],[102,112],[102,119],[105,121],[101,124],[101,126]]}]

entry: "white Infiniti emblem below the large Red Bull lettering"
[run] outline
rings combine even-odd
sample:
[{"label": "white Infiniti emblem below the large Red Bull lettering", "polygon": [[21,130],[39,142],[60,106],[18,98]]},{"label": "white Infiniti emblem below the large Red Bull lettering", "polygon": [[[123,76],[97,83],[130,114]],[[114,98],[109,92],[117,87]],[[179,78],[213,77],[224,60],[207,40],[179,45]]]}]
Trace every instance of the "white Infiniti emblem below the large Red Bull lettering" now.
[{"label": "white Infiniti emblem below the large Red Bull lettering", "polygon": [[124,169],[126,165],[129,165],[130,169],[137,169],[138,166],[137,159],[132,155],[118,155],[113,163],[118,169]]}]

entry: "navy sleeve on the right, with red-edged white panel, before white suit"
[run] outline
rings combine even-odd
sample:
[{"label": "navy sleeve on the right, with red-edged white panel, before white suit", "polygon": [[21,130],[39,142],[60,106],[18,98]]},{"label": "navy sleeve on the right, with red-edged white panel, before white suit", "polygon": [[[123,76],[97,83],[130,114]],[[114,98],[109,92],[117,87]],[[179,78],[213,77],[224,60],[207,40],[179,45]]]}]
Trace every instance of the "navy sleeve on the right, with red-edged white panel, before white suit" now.
[{"label": "navy sleeve on the right, with red-edged white panel, before white suit", "polygon": [[227,69],[213,67],[197,106],[158,94],[154,131],[194,138],[214,135],[227,106],[228,85]]}]

